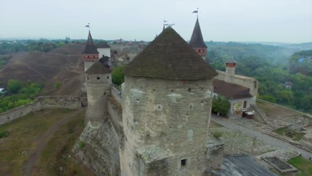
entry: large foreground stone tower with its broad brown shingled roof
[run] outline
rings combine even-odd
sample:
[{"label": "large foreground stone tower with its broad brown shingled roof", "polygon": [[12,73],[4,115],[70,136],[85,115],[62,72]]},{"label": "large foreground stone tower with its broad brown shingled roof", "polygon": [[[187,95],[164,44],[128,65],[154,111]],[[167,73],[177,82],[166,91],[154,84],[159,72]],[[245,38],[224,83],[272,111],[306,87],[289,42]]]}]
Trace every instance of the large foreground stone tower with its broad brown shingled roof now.
[{"label": "large foreground stone tower with its broad brown shingled roof", "polygon": [[201,175],[217,72],[167,27],[126,68],[121,175]]}]

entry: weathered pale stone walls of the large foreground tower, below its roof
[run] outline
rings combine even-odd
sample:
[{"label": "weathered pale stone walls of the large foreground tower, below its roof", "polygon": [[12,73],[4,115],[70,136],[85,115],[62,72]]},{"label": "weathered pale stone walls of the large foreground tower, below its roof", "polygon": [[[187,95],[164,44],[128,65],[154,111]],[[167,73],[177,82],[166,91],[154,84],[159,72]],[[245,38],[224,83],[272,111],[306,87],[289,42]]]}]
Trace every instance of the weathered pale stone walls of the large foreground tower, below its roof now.
[{"label": "weathered pale stone walls of the large foreground tower, below its roof", "polygon": [[[164,170],[161,175],[201,175],[204,172],[211,80],[173,81],[126,76],[122,98],[122,175],[142,175],[154,168],[149,167],[150,164],[160,160],[166,161],[166,165],[161,166]],[[182,160],[186,160],[185,165]]]}]

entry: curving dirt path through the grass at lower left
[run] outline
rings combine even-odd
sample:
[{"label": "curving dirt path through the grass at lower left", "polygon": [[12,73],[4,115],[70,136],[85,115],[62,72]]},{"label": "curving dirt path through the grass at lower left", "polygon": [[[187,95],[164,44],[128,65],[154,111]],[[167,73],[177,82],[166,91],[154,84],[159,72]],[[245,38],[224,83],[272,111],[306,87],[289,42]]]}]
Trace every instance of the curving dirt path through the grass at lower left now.
[{"label": "curving dirt path through the grass at lower left", "polygon": [[62,127],[64,124],[66,124],[66,122],[73,116],[75,116],[76,114],[82,112],[84,110],[84,108],[76,111],[75,113],[66,116],[64,118],[62,118],[59,121],[56,121],[55,124],[50,127],[44,134],[41,135],[41,137],[39,138],[38,144],[36,146],[36,148],[31,152],[31,154],[28,157],[28,160],[26,161],[26,164],[24,165],[23,168],[23,175],[31,175],[32,173],[32,168],[33,166],[36,164],[38,157],[41,155],[42,150],[45,148],[45,146],[47,145],[48,139],[51,135],[53,135],[60,127]]}]

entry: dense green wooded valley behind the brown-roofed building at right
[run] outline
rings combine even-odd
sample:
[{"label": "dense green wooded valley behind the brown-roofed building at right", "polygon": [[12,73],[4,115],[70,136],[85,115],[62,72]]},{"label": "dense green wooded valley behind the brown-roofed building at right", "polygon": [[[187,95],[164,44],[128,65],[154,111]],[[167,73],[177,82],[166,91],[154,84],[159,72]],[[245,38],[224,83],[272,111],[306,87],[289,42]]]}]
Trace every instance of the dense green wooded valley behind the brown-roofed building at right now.
[{"label": "dense green wooded valley behind the brown-roofed building at right", "polygon": [[[302,53],[299,52],[300,54]],[[298,53],[295,53],[291,56],[289,63],[287,58],[284,61],[272,63],[265,58],[256,56],[238,58],[221,55],[216,50],[207,52],[209,64],[221,71],[225,71],[225,62],[227,60],[236,60],[237,74],[256,78],[260,82],[259,98],[312,112],[312,77],[290,72],[291,58],[297,55]],[[293,83],[291,89],[287,89],[284,85],[287,81]]]}]

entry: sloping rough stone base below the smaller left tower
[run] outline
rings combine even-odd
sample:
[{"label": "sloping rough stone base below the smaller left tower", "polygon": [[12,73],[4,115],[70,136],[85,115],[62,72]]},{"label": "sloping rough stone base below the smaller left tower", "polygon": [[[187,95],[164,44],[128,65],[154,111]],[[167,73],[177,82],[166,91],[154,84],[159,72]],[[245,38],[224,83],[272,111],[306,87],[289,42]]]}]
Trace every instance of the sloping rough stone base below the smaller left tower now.
[{"label": "sloping rough stone base below the smaller left tower", "polygon": [[[96,175],[119,175],[119,140],[110,119],[101,123],[99,128],[92,128],[88,122],[73,152]],[[86,146],[81,148],[80,142],[85,142]]]}]

